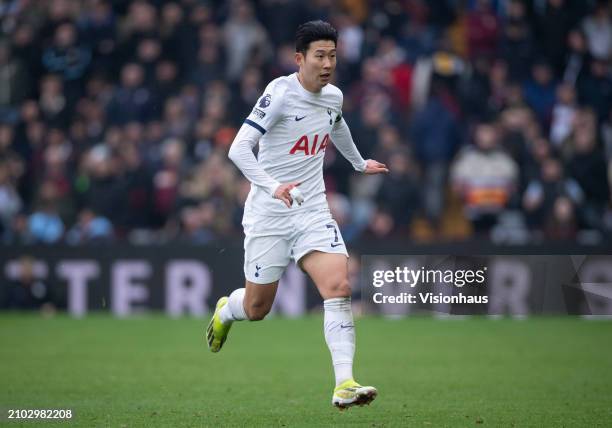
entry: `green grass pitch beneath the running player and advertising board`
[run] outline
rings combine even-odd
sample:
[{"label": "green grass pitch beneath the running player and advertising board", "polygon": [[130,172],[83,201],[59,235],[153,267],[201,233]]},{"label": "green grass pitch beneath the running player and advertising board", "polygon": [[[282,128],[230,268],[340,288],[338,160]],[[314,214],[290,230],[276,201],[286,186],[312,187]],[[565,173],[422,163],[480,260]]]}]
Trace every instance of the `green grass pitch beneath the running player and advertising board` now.
[{"label": "green grass pitch beneath the running player and advertising board", "polygon": [[[320,317],[238,323],[219,354],[207,320],[0,315],[0,425],[80,427],[612,426],[612,321],[357,320],[369,407],[330,404]],[[69,422],[7,409],[72,409]]]}]

